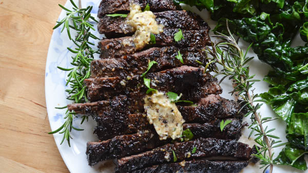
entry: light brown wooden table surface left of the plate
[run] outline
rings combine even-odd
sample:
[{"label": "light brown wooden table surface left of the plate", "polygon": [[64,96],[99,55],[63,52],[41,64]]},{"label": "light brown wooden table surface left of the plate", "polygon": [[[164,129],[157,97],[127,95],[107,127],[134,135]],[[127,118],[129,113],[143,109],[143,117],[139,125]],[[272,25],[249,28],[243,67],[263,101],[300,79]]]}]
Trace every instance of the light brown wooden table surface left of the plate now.
[{"label": "light brown wooden table surface left of the plate", "polygon": [[45,102],[52,28],[66,0],[0,0],[0,172],[68,172]]}]

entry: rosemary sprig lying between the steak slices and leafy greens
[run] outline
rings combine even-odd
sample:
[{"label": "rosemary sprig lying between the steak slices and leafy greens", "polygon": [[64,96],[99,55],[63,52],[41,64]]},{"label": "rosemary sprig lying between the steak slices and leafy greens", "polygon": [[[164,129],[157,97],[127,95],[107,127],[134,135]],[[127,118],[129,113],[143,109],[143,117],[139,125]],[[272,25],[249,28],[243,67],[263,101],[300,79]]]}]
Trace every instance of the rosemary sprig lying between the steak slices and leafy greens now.
[{"label": "rosemary sprig lying between the steak slices and leafy greens", "polygon": [[[236,94],[238,97],[243,99],[240,102],[243,105],[240,111],[247,109],[248,113],[245,116],[251,116],[252,124],[248,127],[252,131],[249,134],[250,138],[255,133],[255,142],[259,145],[256,146],[257,154],[254,156],[261,160],[260,168],[264,168],[264,172],[269,167],[269,172],[273,171],[273,164],[275,160],[273,159],[274,153],[272,153],[272,148],[285,145],[286,143],[281,143],[281,141],[275,141],[274,139],[279,139],[279,137],[271,135],[269,133],[275,131],[275,128],[267,129],[265,128],[264,123],[273,121],[277,118],[272,117],[262,117],[258,110],[262,104],[256,102],[259,97],[258,94],[254,94],[253,84],[257,79],[254,79],[255,75],[249,75],[249,66],[246,65],[247,62],[251,61],[253,57],[247,57],[247,52],[244,53],[243,50],[238,46],[238,40],[236,40],[233,35],[230,33],[228,24],[227,30],[229,36],[222,33],[214,35],[214,37],[222,39],[220,42],[214,42],[211,48],[205,50],[212,57],[208,59],[206,67],[210,71],[216,73],[215,76],[223,75],[220,82],[228,77],[229,80],[233,81],[234,90],[230,92],[232,95]],[[217,64],[222,66],[222,70],[219,70]],[[239,111],[239,112],[240,112]]]}]

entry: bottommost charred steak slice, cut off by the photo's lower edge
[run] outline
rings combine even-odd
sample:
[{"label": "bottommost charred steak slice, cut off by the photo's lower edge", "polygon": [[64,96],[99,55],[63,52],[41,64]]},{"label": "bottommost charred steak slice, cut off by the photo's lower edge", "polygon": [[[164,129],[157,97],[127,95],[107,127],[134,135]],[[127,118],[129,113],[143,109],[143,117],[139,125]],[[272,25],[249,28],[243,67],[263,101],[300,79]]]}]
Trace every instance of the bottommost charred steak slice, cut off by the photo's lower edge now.
[{"label": "bottommost charred steak slice, cut off by the photo's lower edge", "polygon": [[214,161],[214,160],[190,160],[180,163],[160,164],[132,173],[174,173],[174,172],[202,172],[202,173],[237,173],[248,165],[248,161]]}]

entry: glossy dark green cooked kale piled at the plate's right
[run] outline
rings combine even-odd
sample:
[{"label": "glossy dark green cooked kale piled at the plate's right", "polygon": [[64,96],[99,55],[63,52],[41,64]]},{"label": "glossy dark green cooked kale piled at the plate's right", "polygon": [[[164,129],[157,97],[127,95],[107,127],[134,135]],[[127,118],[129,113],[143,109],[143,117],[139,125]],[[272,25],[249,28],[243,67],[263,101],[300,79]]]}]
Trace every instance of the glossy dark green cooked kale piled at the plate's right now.
[{"label": "glossy dark green cooked kale piled at the plate's right", "polygon": [[207,9],[217,20],[215,32],[231,32],[253,43],[258,58],[271,65],[264,81],[271,89],[262,99],[287,123],[290,142],[276,159],[277,164],[307,169],[303,155],[308,149],[308,44],[291,47],[300,33],[308,38],[308,0],[175,0]]}]

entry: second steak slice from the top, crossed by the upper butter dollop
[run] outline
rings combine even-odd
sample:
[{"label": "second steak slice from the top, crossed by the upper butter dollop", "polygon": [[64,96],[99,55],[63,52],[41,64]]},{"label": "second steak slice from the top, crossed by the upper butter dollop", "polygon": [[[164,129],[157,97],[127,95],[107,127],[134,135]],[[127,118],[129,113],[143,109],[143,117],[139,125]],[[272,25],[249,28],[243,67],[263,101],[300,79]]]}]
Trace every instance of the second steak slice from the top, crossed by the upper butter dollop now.
[{"label": "second steak slice from the top, crossed by the upper butter dollop", "polygon": [[[163,11],[154,13],[157,24],[164,25],[165,29],[202,30],[207,29],[207,23],[197,14],[182,11]],[[101,34],[107,38],[133,34],[134,30],[125,23],[123,17],[104,16],[98,25]]]}]

